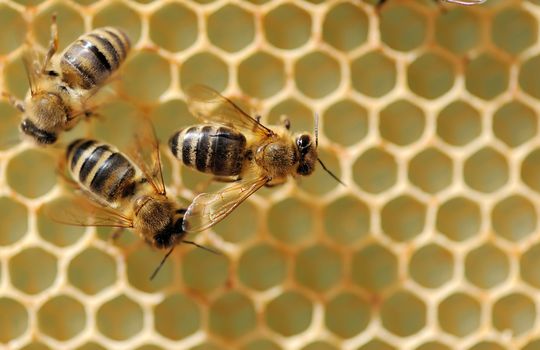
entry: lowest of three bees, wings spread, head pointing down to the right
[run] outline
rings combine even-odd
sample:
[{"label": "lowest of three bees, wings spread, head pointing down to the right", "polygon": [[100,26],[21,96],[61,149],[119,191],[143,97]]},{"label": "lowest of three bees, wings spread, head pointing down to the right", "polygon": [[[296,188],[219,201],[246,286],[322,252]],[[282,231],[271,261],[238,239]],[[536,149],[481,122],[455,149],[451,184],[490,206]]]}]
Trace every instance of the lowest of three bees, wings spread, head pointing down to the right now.
[{"label": "lowest of three bees, wings spread, head pointing down to the right", "polygon": [[[152,152],[145,151],[143,144]],[[82,205],[79,198],[68,209],[70,217],[79,216],[77,224],[83,226],[129,228],[151,246],[169,249],[151,279],[179,243],[214,252],[185,239],[185,209],[167,197],[155,138],[139,135],[129,154],[131,157],[92,139],[77,139],[68,145],[64,166],[87,198]]]}]

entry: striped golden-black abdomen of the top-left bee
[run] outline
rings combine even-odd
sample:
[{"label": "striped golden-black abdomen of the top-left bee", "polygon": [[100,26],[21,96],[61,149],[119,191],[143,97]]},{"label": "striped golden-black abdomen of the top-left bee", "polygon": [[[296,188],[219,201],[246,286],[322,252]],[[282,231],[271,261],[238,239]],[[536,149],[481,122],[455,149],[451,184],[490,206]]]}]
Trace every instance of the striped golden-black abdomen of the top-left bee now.
[{"label": "striped golden-black abdomen of the top-left bee", "polygon": [[62,54],[62,79],[72,88],[90,90],[118,69],[130,46],[129,38],[120,29],[94,29],[79,37]]}]

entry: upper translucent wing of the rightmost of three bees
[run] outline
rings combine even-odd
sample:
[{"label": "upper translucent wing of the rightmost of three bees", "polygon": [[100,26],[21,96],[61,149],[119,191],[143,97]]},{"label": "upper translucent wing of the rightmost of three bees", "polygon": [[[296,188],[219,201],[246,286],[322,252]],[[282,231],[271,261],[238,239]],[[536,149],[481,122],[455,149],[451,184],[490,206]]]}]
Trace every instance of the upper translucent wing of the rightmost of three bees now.
[{"label": "upper translucent wing of the rightmost of three bees", "polygon": [[244,134],[255,135],[258,138],[274,134],[272,130],[250,117],[234,102],[207,86],[191,86],[186,91],[186,95],[189,111],[203,122],[233,126]]}]

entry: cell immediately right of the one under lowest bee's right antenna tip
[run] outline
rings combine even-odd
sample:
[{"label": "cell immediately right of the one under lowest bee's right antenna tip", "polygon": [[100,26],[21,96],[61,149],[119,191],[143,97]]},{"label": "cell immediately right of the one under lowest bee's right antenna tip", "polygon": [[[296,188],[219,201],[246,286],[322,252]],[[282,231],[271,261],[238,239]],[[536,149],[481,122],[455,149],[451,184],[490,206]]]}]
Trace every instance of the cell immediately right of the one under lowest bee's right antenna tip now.
[{"label": "cell immediately right of the one under lowest bee's right antenna tip", "polygon": [[255,290],[266,290],[281,284],[288,269],[287,256],[277,247],[259,244],[246,250],[238,261],[240,281]]}]

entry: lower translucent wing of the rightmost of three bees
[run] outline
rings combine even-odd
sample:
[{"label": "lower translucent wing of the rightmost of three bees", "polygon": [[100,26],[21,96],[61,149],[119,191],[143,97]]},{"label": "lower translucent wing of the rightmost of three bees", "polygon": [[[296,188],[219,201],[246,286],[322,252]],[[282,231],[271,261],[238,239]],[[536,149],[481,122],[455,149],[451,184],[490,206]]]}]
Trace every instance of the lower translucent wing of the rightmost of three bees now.
[{"label": "lower translucent wing of the rightmost of three bees", "polygon": [[184,214],[182,228],[199,232],[214,226],[268,181],[267,177],[254,174],[219,192],[199,194]]}]

